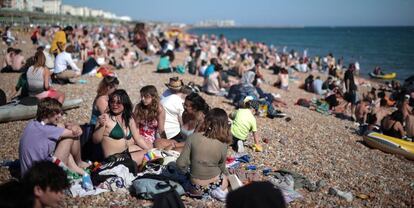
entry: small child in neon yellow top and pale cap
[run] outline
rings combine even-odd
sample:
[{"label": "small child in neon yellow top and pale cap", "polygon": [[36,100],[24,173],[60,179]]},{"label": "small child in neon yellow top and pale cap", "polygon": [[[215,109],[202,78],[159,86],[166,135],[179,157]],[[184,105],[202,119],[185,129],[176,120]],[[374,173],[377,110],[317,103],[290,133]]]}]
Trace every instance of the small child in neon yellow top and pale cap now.
[{"label": "small child in neon yellow top and pale cap", "polygon": [[233,119],[231,125],[231,134],[233,135],[232,148],[236,152],[244,152],[244,142],[247,140],[249,133],[252,132],[254,138],[254,150],[261,152],[262,146],[259,144],[259,134],[257,133],[257,124],[254,114],[256,110],[251,106],[252,96],[244,99],[244,108],[240,108],[230,116]]}]

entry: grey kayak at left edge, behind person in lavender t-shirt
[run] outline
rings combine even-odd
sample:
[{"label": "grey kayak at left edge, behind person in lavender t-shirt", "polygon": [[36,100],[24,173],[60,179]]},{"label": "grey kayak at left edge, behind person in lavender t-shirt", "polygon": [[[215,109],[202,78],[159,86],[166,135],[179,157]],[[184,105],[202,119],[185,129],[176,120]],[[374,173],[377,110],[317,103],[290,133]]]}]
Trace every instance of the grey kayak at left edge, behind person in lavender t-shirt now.
[{"label": "grey kayak at left edge, behind person in lavender t-shirt", "polygon": [[[79,107],[82,103],[82,99],[65,100],[62,105],[63,110]],[[25,120],[36,117],[37,105],[22,105],[16,103],[10,103],[0,106],[0,123]]]}]

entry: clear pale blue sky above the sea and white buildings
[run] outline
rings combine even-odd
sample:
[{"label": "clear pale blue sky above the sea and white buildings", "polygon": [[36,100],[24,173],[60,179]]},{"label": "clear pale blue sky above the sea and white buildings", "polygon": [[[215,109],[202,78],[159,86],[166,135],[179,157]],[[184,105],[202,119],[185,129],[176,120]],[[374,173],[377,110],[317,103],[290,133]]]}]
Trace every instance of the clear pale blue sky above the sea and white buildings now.
[{"label": "clear pale blue sky above the sea and white buildings", "polygon": [[134,20],[238,26],[414,26],[414,0],[63,0]]}]

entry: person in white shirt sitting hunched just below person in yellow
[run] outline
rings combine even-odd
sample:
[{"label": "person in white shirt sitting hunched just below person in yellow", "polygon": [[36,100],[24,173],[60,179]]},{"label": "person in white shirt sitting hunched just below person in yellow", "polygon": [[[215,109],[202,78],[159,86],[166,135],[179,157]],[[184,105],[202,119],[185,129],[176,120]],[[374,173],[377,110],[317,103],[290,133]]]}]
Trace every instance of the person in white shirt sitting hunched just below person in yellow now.
[{"label": "person in white shirt sitting hunched just below person in yellow", "polygon": [[[67,81],[81,75],[82,70],[79,69],[72,59],[73,52],[75,52],[75,46],[69,45],[64,52],[56,56],[53,74],[57,79]],[[68,66],[70,66],[71,69],[68,69]]]}]

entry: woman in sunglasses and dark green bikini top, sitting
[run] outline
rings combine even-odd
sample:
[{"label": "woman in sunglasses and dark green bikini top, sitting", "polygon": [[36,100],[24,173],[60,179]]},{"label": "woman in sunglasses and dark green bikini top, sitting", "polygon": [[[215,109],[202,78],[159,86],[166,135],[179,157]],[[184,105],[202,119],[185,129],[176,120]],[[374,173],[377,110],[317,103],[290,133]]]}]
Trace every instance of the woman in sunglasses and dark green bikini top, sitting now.
[{"label": "woman in sunglasses and dark green bikini top, sitting", "polygon": [[132,115],[128,94],[122,89],[115,90],[109,96],[109,112],[99,116],[93,134],[94,142],[101,143],[106,160],[122,155],[141,164],[149,147],[139,135]]}]

